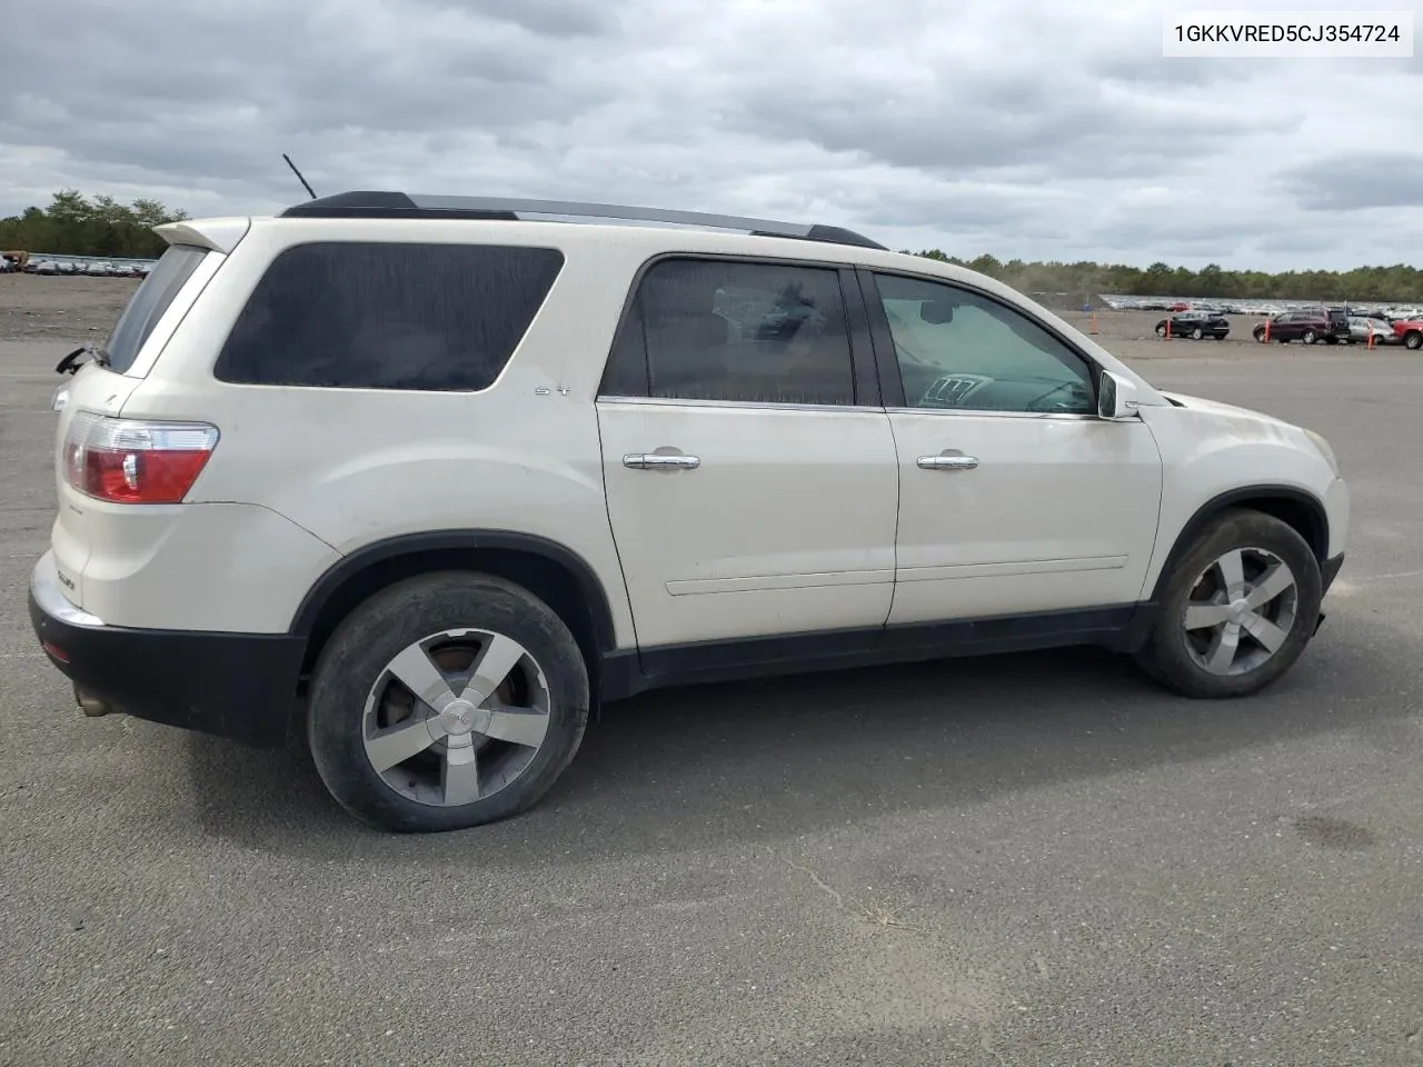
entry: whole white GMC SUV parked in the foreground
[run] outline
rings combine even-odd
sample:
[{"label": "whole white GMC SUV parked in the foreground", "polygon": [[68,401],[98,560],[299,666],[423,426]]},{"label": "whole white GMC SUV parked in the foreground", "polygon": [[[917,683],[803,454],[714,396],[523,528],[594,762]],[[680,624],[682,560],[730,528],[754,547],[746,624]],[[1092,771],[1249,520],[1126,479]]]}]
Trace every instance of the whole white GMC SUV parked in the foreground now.
[{"label": "whole white GMC SUV parked in the foreground", "polygon": [[61,364],[34,629],[87,713],[302,736],[387,828],[529,807],[673,683],[1103,644],[1252,693],[1343,559],[1318,435],[848,230],[343,193],[159,233]]}]

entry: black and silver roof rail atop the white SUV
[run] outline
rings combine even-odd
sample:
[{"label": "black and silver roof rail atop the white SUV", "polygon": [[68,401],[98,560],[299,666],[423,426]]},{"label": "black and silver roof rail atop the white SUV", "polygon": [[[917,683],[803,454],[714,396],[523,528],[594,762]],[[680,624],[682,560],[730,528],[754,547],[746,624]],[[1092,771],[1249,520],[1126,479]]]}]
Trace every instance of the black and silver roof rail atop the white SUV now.
[{"label": "black and silver roof rail atop the white SUV", "polygon": [[340,192],[297,203],[282,212],[283,219],[485,219],[517,222],[528,215],[622,222],[663,222],[706,229],[736,229],[758,238],[794,238],[830,245],[854,245],[888,250],[854,230],[803,222],[773,222],[737,215],[709,215],[696,211],[630,208],[579,201],[529,201],[502,196],[424,196],[404,192]]}]

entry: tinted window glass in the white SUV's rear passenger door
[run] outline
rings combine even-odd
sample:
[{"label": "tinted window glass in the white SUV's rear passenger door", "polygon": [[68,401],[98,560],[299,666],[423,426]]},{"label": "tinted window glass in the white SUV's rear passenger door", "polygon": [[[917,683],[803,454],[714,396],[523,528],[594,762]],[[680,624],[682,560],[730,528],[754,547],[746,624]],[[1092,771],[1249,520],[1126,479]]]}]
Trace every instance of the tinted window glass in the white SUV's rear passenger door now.
[{"label": "tinted window glass in the white SUV's rear passenger door", "polygon": [[840,276],[778,263],[655,263],[619,329],[602,393],[854,404]]}]

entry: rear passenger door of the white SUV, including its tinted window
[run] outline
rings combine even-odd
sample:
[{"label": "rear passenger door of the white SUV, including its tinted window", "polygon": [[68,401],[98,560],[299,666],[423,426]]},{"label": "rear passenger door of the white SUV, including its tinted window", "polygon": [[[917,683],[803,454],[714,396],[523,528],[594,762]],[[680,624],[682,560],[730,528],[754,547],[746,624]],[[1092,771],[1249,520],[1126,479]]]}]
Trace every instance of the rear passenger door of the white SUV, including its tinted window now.
[{"label": "rear passenger door of the white SUV, including its tinted window", "polygon": [[710,258],[636,283],[598,424],[645,669],[649,649],[884,626],[898,474],[854,286]]}]

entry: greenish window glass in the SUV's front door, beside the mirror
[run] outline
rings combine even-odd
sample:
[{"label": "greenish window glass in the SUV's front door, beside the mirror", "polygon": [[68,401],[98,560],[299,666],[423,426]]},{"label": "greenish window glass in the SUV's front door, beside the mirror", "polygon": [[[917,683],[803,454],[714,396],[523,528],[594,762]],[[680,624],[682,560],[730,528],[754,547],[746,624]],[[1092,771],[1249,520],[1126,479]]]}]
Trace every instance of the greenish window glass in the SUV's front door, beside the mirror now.
[{"label": "greenish window glass in the SUV's front door, beside the mirror", "polygon": [[1086,360],[1020,312],[939,282],[877,285],[909,407],[1096,411]]}]

